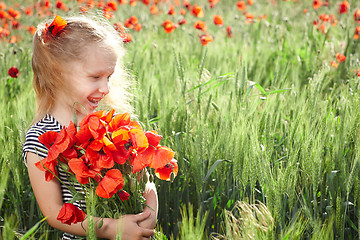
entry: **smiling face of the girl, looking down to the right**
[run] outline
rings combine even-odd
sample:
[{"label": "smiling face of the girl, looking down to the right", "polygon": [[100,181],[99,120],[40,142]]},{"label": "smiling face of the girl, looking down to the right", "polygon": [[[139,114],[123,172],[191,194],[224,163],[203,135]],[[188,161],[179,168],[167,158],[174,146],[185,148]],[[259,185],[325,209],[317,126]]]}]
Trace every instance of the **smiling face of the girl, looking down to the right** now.
[{"label": "smiling face of the girl, looking down to the right", "polygon": [[65,91],[57,97],[64,110],[73,109],[78,119],[92,113],[109,93],[109,78],[114,73],[117,57],[114,52],[93,45],[87,48],[82,61],[70,61],[64,76]]}]

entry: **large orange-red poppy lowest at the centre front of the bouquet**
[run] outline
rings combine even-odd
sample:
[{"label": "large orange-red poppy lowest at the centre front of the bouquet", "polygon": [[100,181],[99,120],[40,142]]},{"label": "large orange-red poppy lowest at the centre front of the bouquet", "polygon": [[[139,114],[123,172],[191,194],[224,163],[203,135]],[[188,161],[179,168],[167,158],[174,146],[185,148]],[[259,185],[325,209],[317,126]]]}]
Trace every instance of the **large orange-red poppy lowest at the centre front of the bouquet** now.
[{"label": "large orange-red poppy lowest at the centre front of the bouquet", "polygon": [[102,198],[111,198],[124,186],[124,179],[119,169],[110,169],[96,188],[96,194]]}]

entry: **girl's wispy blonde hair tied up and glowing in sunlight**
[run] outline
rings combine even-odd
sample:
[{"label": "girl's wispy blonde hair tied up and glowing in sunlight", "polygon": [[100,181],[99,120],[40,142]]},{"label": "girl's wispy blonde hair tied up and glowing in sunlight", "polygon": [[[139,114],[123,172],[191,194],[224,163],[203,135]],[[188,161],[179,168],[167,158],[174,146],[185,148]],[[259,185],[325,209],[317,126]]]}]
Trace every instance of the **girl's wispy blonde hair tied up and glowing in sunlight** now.
[{"label": "girl's wispy blonde hair tied up and glowing in sunlight", "polygon": [[46,23],[39,24],[34,34],[31,64],[36,113],[33,121],[37,122],[49,113],[55,103],[55,93],[66,88],[64,75],[67,64],[82,60],[92,44],[98,44],[117,56],[115,72],[109,83],[111,90],[103,100],[105,106],[118,112],[132,112],[131,94],[128,92],[130,77],[122,63],[125,50],[118,32],[100,17],[75,16],[64,20],[67,25],[54,37],[46,31]]}]

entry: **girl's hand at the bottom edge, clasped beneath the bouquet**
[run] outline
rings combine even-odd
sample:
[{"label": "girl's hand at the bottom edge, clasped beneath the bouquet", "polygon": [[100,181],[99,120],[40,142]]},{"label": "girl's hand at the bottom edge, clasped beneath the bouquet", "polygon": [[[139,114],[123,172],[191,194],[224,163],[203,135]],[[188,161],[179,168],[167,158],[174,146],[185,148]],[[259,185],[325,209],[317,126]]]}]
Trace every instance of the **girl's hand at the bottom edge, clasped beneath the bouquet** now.
[{"label": "girl's hand at the bottom edge, clasped beneath the bouquet", "polygon": [[154,229],[144,228],[139,225],[140,222],[146,221],[150,212],[142,212],[136,215],[124,215],[120,220],[119,233],[122,240],[142,240],[150,239],[155,234]]}]

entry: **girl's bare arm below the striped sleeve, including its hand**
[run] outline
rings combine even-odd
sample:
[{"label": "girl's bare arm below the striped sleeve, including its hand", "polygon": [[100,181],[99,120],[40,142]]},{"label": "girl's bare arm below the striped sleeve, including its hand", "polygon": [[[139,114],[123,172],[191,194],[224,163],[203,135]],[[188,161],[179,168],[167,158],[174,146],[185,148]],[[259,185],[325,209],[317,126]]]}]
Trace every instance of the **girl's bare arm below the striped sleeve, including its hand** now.
[{"label": "girl's bare arm below the striped sleeve, including its hand", "polygon": [[[35,163],[39,161],[36,154],[27,153],[28,173],[33,188],[36,200],[41,212],[47,217],[47,222],[54,228],[61,231],[78,235],[86,236],[81,223],[63,224],[56,218],[63,205],[60,183],[53,179],[49,182],[45,181],[44,172],[39,170]],[[147,221],[150,214],[143,212],[137,215],[124,215],[119,219],[105,218],[103,219],[103,226],[96,228],[97,237],[115,239],[118,231],[122,231],[122,239],[142,239],[154,234],[153,229],[140,227],[138,223]],[[97,222],[97,218],[94,219]],[[87,229],[87,219],[84,220],[83,226]]]}]

